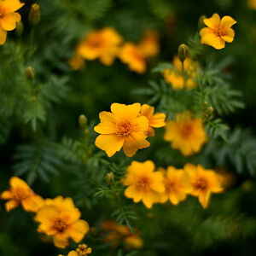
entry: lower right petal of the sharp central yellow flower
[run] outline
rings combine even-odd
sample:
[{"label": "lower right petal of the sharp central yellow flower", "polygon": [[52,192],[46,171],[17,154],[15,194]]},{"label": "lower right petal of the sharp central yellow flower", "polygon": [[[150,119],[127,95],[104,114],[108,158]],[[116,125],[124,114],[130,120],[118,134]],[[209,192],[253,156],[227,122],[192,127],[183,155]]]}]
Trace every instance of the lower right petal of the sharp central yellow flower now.
[{"label": "lower right petal of the sharp central yellow flower", "polygon": [[131,132],[125,137],[124,152],[127,156],[131,157],[137,152],[139,148],[148,148],[150,143],[145,139],[143,131]]}]

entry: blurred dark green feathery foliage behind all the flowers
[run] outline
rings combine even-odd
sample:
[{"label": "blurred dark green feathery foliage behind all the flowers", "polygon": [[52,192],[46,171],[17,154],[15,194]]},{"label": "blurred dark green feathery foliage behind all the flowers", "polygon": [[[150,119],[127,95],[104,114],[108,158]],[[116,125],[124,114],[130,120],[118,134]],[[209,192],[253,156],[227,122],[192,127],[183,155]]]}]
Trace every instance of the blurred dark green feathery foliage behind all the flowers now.
[{"label": "blurred dark green feathery foliage behind all the flowers", "polygon": [[[17,29],[9,32],[0,49],[0,191],[16,175],[44,198],[73,197],[93,228],[83,240],[92,255],[255,255],[256,13],[246,1],[38,0],[38,26],[28,22],[34,2],[24,3],[22,35]],[[222,50],[199,41],[199,18],[213,13],[237,20],[235,40]],[[79,40],[105,26],[135,43],[148,29],[159,32],[160,54],[148,61],[146,73],[131,72],[119,60],[111,67],[99,61],[86,61],[82,71],[69,67]],[[184,101],[182,92],[172,90],[160,75],[183,43],[205,71],[198,78],[202,89]],[[26,79],[26,67],[35,69],[35,79]],[[148,210],[125,199],[122,189],[116,193],[108,186],[106,174],[113,172],[118,181],[131,159],[123,153],[109,159],[96,148],[98,113],[109,111],[113,102],[141,102],[172,119],[189,104],[201,111],[204,101],[215,109],[215,123],[208,125],[210,140],[201,153],[184,157],[163,141],[161,128],[148,139],[151,146],[132,160],[154,160],[157,167],[190,162],[228,173],[226,191],[213,195],[207,210],[191,196],[177,207],[167,203]],[[83,129],[80,114],[89,120]],[[21,208],[5,212],[3,201],[0,206],[0,255],[67,255],[76,247],[54,247],[38,234],[32,213]],[[100,226],[106,219],[136,227],[143,248],[102,243],[106,235]]]}]

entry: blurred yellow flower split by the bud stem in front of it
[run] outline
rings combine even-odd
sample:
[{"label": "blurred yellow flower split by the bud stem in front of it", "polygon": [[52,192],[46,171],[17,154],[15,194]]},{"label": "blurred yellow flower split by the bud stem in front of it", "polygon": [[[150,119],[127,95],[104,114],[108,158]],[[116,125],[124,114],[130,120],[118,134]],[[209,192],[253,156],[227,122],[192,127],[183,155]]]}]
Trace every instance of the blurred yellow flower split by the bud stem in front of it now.
[{"label": "blurred yellow flower split by the bud stem in front of it", "polygon": [[[182,62],[179,61],[177,55],[173,58],[174,69],[167,68],[163,71],[164,79],[167,83],[172,84],[174,90],[180,90],[184,88],[184,79],[182,73]],[[198,72],[199,65],[196,61],[192,61],[187,57],[184,61],[184,71],[188,78],[186,79],[186,89],[194,89],[197,84],[195,82],[196,73]]]}]

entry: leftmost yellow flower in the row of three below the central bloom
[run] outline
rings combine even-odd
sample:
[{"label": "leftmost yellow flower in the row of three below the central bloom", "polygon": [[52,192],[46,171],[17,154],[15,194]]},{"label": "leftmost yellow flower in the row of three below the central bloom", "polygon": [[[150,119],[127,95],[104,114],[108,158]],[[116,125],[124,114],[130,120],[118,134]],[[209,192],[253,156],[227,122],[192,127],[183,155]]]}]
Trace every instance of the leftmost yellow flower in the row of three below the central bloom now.
[{"label": "leftmost yellow flower in the row of three below the central bloom", "polygon": [[128,186],[125,189],[126,197],[132,198],[134,202],[143,201],[148,208],[151,208],[154,202],[160,201],[160,193],[165,191],[163,175],[161,172],[154,172],[153,161],[132,161],[126,172],[122,180],[125,186]]}]

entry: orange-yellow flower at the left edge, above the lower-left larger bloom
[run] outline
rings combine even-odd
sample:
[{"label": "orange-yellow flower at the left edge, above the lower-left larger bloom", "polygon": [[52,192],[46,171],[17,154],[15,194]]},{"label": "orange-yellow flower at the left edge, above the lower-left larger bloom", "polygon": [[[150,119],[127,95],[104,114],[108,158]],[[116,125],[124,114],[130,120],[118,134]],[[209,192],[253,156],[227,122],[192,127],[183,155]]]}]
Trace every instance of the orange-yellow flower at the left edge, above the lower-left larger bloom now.
[{"label": "orange-yellow flower at the left edge, above the lower-left larger bloom", "polygon": [[20,177],[11,177],[10,189],[3,191],[1,199],[9,200],[5,203],[6,211],[9,212],[20,204],[27,212],[37,212],[44,205],[44,199],[36,195],[25,181]]}]

